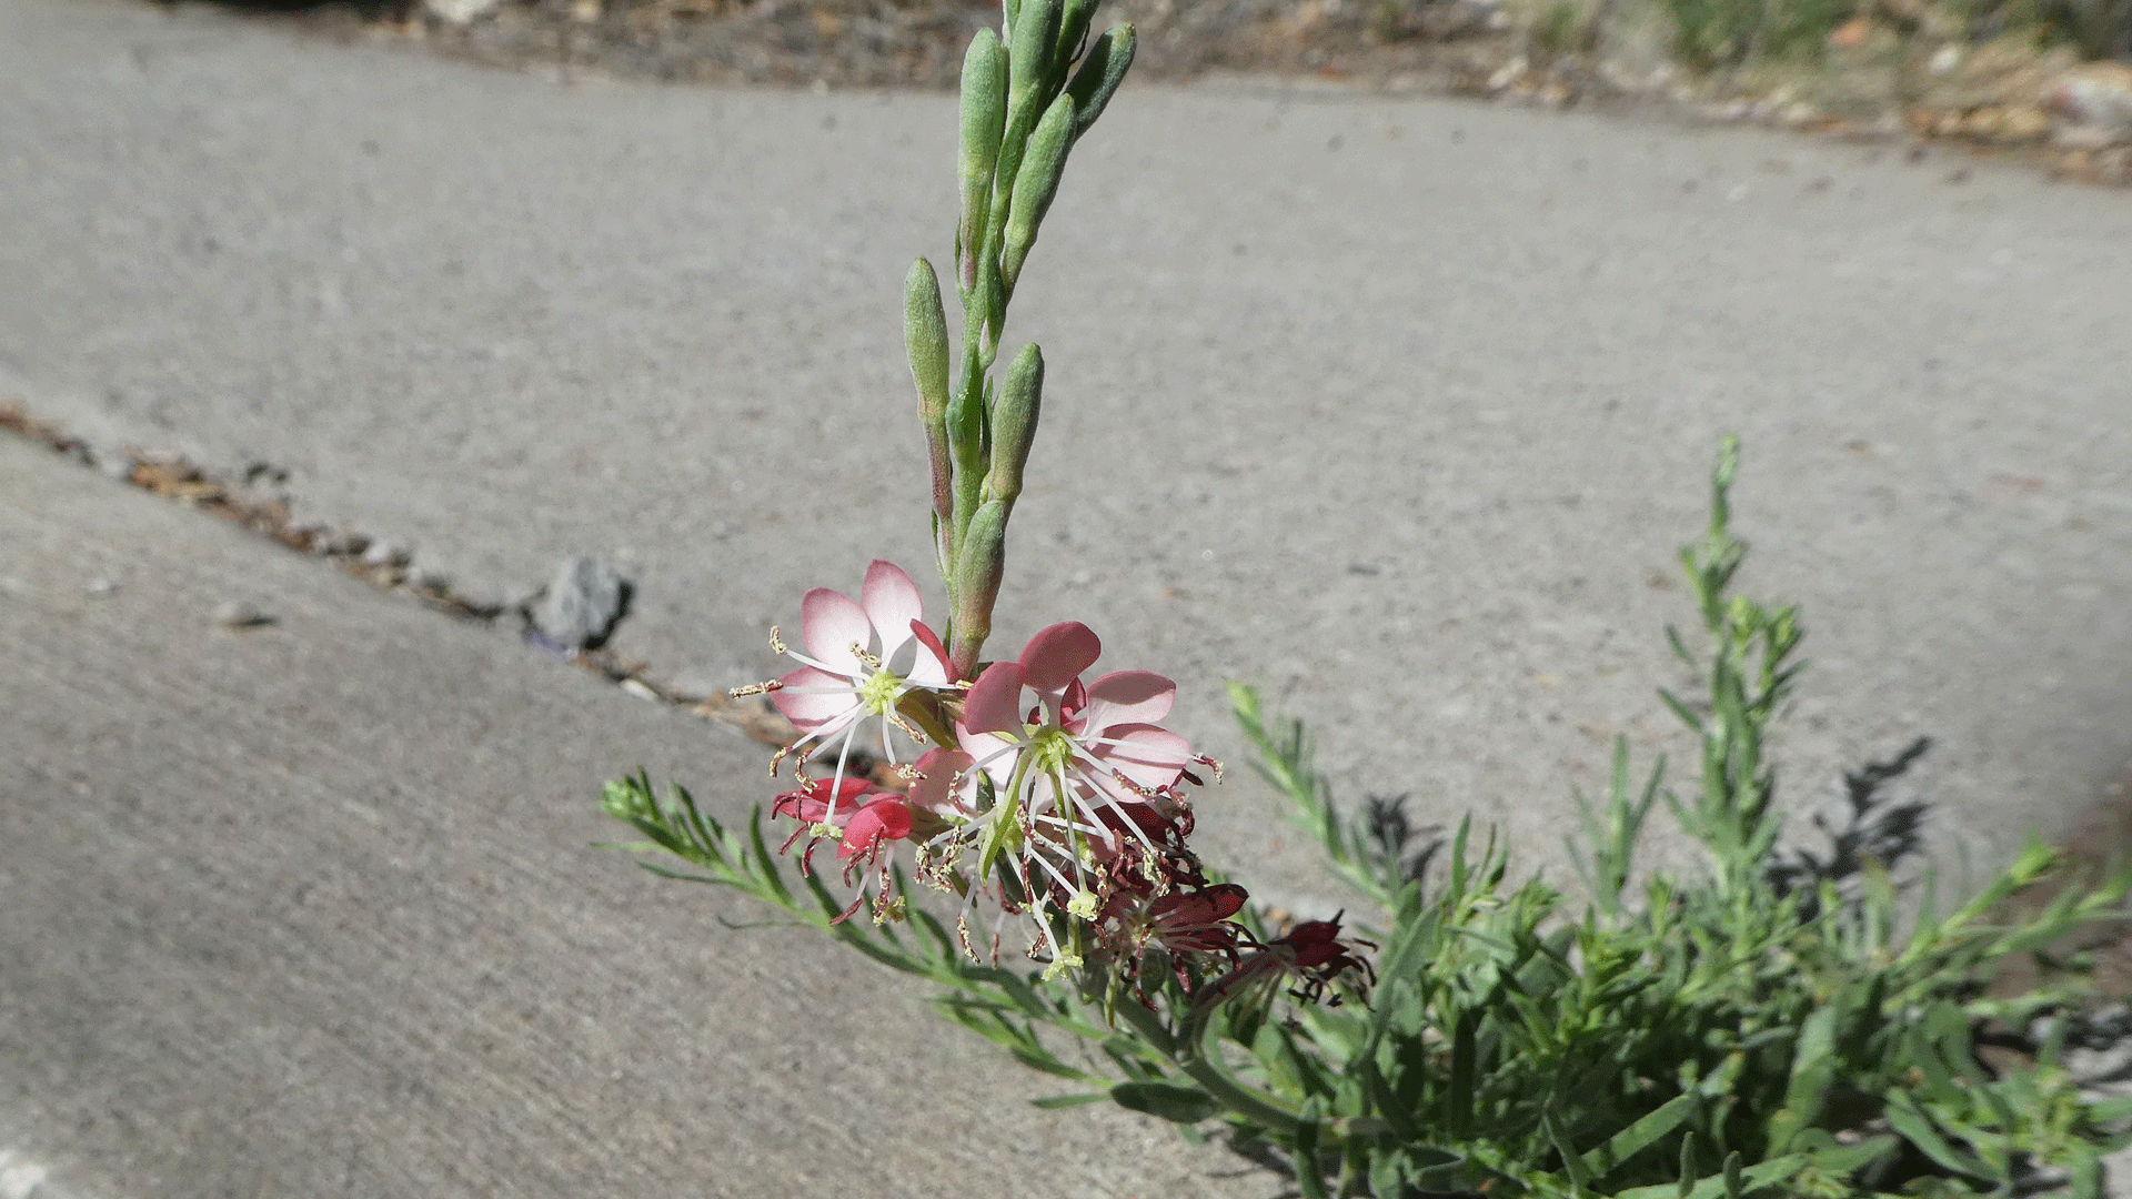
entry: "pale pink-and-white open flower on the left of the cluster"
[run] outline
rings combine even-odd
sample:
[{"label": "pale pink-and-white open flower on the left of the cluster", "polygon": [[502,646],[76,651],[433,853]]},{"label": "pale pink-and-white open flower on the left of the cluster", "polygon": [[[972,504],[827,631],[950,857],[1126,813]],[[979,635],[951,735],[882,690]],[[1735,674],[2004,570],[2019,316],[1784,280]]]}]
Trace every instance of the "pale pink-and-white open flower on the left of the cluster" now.
[{"label": "pale pink-and-white open flower on the left of the cluster", "polygon": [[944,691],[955,681],[940,636],[925,627],[923,617],[923,602],[910,576],[895,563],[874,559],[857,602],[827,587],[808,591],[800,602],[806,653],[787,649],[776,629],[770,632],[770,644],[800,661],[800,670],[776,683],[736,691],[736,696],[770,691],[770,702],[800,730],[800,740],[785,747],[778,762],[789,753],[797,753],[804,762],[814,749],[838,742],[836,787],[827,815],[838,809],[838,787],[844,783],[844,766],[859,728],[868,719],[878,719],[881,755],[895,762],[891,728],[917,742],[925,740],[925,734],[898,713],[902,698],[915,689]]}]

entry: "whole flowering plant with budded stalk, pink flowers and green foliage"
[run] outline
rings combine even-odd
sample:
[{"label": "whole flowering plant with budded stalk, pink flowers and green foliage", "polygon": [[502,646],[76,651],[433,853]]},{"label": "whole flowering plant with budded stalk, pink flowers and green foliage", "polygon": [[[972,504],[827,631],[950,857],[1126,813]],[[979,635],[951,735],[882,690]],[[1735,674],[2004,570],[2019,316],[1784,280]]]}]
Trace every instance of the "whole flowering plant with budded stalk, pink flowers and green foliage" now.
[{"label": "whole flowering plant with budded stalk, pink flowers and green foliage", "polygon": [[[1923,809],[1883,787],[1923,742],[1848,779],[1846,824],[1821,826],[1827,853],[1784,843],[1765,734],[1802,629],[1791,608],[1731,591],[1746,553],[1731,442],[1710,529],[1682,550],[1703,646],[1671,634],[1703,693],[1665,693],[1701,747],[1697,785],[1667,789],[1663,760],[1635,785],[1616,745],[1603,802],[1580,798],[1580,911],[1537,877],[1507,885],[1507,853],[1467,826],[1431,879],[1443,843],[1418,843],[1399,802],[1341,813],[1301,725],[1266,721],[1232,685],[1260,772],[1367,907],[1352,928],[1271,928],[1188,845],[1192,794],[1217,766],[1162,728],[1168,678],[1092,674],[1102,644],[1075,621],[983,657],[1045,380],[1036,346],[994,375],[1008,303],[1075,143],[1132,62],[1128,26],[1087,41],[1094,9],[1008,0],[1004,38],[970,43],[959,356],[932,267],[906,282],[947,619],[930,625],[887,561],[857,600],[808,591],[800,646],[772,632],[795,668],[738,691],[797,732],[772,760],[791,774],[772,802],[791,821],[782,845],[761,809],[733,830],[637,774],[608,785],[605,809],[646,838],[631,845],[657,856],[644,864],[936,984],[947,1018],[1075,1084],[1040,1105],[1113,1099],[1192,1137],[1220,1120],[1309,1199],[2100,1195],[2132,1101],[2098,1101],[2068,1069],[2066,1045],[2096,1024],[2062,969],[2079,960],[2051,949],[2111,915],[2132,875],[2008,917],[2006,900],[2057,868],[2030,845],[1951,913],[1929,875],[1900,894]],[[1637,881],[1661,800],[1708,873]],[[829,847],[836,866],[817,864]],[[2010,956],[2053,981],[1989,994]]]}]

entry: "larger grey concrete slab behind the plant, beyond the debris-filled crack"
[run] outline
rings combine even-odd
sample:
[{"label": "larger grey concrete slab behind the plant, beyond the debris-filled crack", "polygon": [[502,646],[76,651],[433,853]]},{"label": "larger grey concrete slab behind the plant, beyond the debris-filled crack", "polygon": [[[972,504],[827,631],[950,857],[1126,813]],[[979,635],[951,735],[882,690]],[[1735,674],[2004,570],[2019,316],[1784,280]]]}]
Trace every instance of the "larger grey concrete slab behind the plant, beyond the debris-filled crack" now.
[{"label": "larger grey concrete slab behind the plant, beyond the debris-filled crack", "polygon": [[[0,369],[90,437],[286,467],[471,587],[635,574],[623,653],[733,683],[810,585],[925,567],[898,288],[951,98],[473,70],[181,6],[0,9]],[[1667,717],[1674,546],[1746,437],[1806,606],[1793,796],[1910,736],[1978,862],[2132,753],[2132,205],[1742,130],[1134,90],[1011,337],[1047,422],[996,627],[1083,619],[1315,719],[1343,792],[1533,860]],[[1266,853],[1273,798],[1205,809]]]}]

